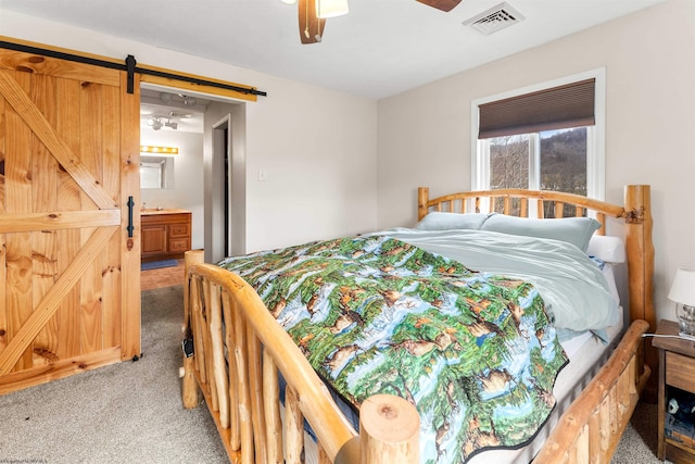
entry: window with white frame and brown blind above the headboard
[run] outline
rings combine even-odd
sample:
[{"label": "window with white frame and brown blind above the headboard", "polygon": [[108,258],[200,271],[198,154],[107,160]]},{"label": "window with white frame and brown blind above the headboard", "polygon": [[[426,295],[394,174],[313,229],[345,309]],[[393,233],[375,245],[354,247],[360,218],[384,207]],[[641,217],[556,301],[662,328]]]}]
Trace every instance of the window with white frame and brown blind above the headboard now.
[{"label": "window with white frame and brown blind above the headboard", "polygon": [[604,199],[605,70],[472,103],[473,190]]}]

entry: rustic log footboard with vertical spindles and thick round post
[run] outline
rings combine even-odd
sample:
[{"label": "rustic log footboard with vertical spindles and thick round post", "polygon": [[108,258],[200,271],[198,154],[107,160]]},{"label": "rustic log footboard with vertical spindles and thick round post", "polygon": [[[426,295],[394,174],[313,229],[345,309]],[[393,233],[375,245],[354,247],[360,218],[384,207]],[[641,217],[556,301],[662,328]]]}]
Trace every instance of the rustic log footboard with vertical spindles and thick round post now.
[{"label": "rustic log footboard with vertical spindles and thick round post", "polygon": [[[301,463],[303,418],[317,436],[320,463],[416,463],[419,417],[407,401],[377,396],[353,429],[301,350],[244,280],[187,252],[182,399],[199,389],[231,462]],[[187,350],[185,350],[187,351]],[[287,381],[285,417],[278,373]]]}]

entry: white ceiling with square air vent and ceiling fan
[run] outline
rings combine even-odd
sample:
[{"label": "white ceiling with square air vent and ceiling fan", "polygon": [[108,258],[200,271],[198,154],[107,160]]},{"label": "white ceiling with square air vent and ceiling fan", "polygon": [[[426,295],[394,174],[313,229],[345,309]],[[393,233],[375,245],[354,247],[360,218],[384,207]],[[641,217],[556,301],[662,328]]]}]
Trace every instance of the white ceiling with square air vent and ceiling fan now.
[{"label": "white ceiling with square air vent and ceiling fan", "polygon": [[313,45],[300,43],[296,4],[280,0],[0,0],[0,8],[379,99],[661,1],[508,0],[525,21],[485,36],[463,23],[500,0],[463,0],[448,13],[415,0],[349,0],[350,14],[327,20]]}]

